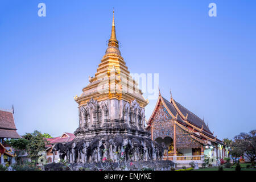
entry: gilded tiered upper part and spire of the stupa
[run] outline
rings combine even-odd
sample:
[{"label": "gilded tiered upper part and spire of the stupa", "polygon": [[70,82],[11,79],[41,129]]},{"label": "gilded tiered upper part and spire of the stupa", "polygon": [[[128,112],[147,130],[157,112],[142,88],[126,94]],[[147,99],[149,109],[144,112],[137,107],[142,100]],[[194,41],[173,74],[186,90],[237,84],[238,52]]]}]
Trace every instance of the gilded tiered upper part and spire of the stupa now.
[{"label": "gilded tiered upper part and spire of the stupa", "polygon": [[108,40],[108,48],[98,64],[94,77],[89,76],[89,85],[82,89],[82,94],[75,97],[79,105],[84,105],[91,98],[98,102],[108,99],[118,99],[131,102],[134,99],[141,107],[147,105],[138,83],[131,77],[121,52],[115,34],[115,20],[113,11],[112,31]]}]

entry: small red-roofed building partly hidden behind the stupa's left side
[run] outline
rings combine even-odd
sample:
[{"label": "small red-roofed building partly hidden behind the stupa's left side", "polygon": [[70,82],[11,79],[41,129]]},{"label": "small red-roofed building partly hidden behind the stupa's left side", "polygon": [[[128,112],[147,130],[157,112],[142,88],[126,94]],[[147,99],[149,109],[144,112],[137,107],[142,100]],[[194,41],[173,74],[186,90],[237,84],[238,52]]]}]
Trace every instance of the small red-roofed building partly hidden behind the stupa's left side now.
[{"label": "small red-roofed building partly hidden behind the stupa's left side", "polygon": [[76,136],[72,133],[64,132],[60,137],[55,138],[45,138],[49,144],[46,144],[46,162],[47,163],[57,163],[59,158],[59,154],[57,151],[55,152],[55,159],[53,161],[52,147],[56,143],[68,143],[71,142]]}]

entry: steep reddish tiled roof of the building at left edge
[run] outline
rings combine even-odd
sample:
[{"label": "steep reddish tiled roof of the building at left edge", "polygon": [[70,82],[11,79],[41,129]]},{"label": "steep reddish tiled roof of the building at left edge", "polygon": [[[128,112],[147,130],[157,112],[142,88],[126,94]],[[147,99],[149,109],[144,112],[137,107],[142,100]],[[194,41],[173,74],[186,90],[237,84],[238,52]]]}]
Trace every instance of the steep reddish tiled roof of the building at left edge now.
[{"label": "steep reddish tiled roof of the building at left edge", "polygon": [[21,138],[16,130],[13,113],[0,110],[0,138]]}]

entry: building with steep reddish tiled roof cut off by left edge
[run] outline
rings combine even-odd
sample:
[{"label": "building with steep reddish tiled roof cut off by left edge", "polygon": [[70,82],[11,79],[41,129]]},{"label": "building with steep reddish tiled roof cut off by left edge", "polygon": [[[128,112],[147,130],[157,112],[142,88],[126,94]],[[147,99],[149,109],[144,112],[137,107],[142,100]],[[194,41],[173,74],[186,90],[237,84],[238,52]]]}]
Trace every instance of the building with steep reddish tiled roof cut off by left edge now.
[{"label": "building with steep reddish tiled roof cut off by left edge", "polygon": [[5,141],[22,138],[16,131],[13,114],[13,110],[0,110],[0,164],[3,165],[15,163],[14,151]]}]

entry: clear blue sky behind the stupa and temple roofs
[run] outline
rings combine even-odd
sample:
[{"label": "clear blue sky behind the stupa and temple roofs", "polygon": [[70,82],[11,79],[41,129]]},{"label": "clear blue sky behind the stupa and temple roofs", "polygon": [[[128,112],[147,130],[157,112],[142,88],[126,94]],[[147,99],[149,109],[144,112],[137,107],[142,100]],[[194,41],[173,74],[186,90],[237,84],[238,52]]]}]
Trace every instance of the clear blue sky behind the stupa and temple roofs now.
[{"label": "clear blue sky behind the stupa and temple roofs", "polygon": [[256,129],[256,1],[1,0],[0,107],[14,104],[20,135],[78,127],[73,96],[104,56],[113,7],[131,73],[159,73],[162,96],[171,89],[220,139]]}]

